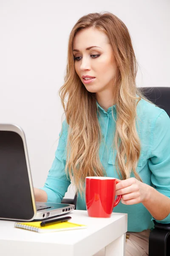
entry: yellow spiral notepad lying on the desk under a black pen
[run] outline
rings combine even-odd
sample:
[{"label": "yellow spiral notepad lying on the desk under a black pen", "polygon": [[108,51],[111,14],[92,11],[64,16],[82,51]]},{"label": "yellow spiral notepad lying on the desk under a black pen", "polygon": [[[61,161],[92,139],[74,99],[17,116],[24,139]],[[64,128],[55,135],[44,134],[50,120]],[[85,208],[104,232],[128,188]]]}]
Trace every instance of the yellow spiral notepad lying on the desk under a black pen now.
[{"label": "yellow spiral notepad lying on the desk under a black pen", "polygon": [[87,226],[82,224],[71,223],[68,221],[51,224],[46,227],[41,227],[40,223],[42,221],[35,221],[35,222],[16,222],[14,227],[23,228],[25,230],[31,230],[38,233],[47,233],[47,232],[56,232],[56,231],[64,231],[64,230],[77,230],[77,229],[84,229]]}]

